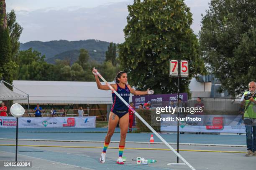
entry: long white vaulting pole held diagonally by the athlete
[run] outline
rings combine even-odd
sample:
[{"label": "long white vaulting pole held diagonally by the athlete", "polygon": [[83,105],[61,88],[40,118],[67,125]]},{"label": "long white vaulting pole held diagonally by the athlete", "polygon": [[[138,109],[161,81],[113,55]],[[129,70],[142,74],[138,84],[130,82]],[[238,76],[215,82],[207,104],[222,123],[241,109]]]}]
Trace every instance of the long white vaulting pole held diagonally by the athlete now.
[{"label": "long white vaulting pole held diagonally by the athlete", "polygon": [[167,143],[164,138],[162,138],[157,132],[156,130],[154,130],[150,125],[148,125],[148,123],[133,109],[133,107],[131,107],[124,99],[123,97],[121,97],[118,92],[115,91],[115,89],[102,77],[102,75],[100,75],[99,72],[96,72],[96,74],[106,83],[106,85],[108,85],[108,87],[119,97],[120,100],[122,100],[124,102],[124,104],[133,111],[133,113],[168,147],[172,150],[172,152],[175,153],[175,155],[177,155],[185,164],[187,164],[187,166],[192,169],[192,170],[196,170],[194,167],[192,167],[192,165],[190,165],[190,163],[187,162],[187,160],[185,160],[181,155],[179,155],[179,153],[177,153],[176,150],[174,150],[174,148],[172,148],[171,145],[169,145],[169,143]]}]

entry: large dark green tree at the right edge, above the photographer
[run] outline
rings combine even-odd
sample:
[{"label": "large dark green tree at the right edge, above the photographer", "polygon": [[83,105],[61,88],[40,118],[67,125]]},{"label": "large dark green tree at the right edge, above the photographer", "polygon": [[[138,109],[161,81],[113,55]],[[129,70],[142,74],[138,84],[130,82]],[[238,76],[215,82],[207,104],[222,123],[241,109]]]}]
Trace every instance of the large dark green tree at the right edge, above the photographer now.
[{"label": "large dark green tree at the right edge, above the photographer", "polygon": [[200,46],[208,69],[232,97],[256,80],[256,1],[212,0],[202,18]]}]

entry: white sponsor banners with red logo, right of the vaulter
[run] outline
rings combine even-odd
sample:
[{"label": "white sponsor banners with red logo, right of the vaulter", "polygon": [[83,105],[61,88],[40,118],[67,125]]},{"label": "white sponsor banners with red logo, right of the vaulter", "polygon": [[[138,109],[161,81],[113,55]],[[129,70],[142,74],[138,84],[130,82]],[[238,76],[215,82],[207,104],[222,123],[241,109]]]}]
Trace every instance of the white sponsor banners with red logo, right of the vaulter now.
[{"label": "white sponsor banners with red logo, right of the vaulter", "polygon": [[[161,115],[168,117],[172,115]],[[203,123],[195,121],[180,121],[180,132],[205,132],[205,133],[246,133],[242,116],[233,115],[190,115],[202,117]],[[198,123],[198,124],[197,124]],[[203,125],[202,125],[203,124]],[[161,121],[162,132],[177,132],[177,121]]]}]

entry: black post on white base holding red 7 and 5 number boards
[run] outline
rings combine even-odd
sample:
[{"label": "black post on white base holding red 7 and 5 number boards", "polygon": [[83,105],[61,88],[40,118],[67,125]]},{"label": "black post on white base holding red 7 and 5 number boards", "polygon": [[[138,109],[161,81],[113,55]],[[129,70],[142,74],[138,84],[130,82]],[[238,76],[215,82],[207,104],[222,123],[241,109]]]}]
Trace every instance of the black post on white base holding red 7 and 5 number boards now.
[{"label": "black post on white base holding red 7 and 5 number boards", "polygon": [[[189,76],[189,61],[188,60],[169,60],[169,76],[178,78],[177,117],[179,117],[179,78]],[[177,121],[177,153],[179,153],[179,120]],[[185,165],[185,164],[179,163],[179,157],[177,157],[177,163],[168,163],[167,165]]]}]

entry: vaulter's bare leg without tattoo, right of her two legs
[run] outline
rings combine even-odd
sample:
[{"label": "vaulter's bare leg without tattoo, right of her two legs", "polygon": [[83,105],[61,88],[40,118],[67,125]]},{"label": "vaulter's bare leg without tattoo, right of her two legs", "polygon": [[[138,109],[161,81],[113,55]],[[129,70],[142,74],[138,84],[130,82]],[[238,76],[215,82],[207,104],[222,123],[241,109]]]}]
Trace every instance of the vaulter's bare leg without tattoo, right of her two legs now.
[{"label": "vaulter's bare leg without tattoo, right of her two legs", "polygon": [[120,135],[121,135],[119,146],[125,145],[125,138],[128,130],[128,125],[129,125],[129,113],[126,113],[123,117],[119,119],[119,127],[120,127]]}]

